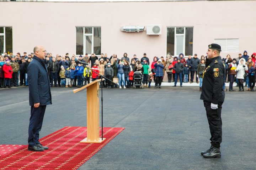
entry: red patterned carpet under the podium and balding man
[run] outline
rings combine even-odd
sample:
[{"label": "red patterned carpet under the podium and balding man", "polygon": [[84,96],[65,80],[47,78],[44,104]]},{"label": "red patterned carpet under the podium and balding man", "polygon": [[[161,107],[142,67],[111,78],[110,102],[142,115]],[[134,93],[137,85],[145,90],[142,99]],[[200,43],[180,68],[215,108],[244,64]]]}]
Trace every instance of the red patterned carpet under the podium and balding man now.
[{"label": "red patterned carpet under the podium and balding man", "polygon": [[27,145],[0,145],[0,170],[76,170],[124,129],[103,128],[102,143],[79,143],[87,128],[67,126],[40,140],[49,147],[43,152],[28,151]]}]

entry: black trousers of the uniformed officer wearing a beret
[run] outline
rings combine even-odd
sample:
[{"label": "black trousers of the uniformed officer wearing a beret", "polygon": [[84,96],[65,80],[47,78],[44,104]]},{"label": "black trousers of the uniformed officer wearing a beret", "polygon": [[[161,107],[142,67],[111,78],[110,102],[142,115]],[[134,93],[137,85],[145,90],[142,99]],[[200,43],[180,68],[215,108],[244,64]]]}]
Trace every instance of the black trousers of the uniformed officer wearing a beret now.
[{"label": "black trousers of the uniformed officer wearing a beret", "polygon": [[206,116],[210,128],[210,141],[221,143],[222,142],[222,119],[221,110],[223,102],[218,103],[218,109],[212,109],[210,107],[211,101],[203,101],[206,108]]}]

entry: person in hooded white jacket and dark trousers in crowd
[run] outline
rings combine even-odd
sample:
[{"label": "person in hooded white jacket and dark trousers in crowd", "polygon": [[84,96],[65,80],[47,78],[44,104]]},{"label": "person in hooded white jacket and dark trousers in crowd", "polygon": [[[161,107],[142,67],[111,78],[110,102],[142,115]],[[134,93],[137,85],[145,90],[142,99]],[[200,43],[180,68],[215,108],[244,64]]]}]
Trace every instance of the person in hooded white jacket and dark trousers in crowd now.
[{"label": "person in hooded white jacket and dark trousers in crowd", "polygon": [[239,86],[239,91],[244,91],[244,84],[243,84],[243,80],[244,80],[244,75],[246,74],[245,71],[248,70],[247,65],[245,64],[245,59],[241,58],[239,60],[239,64],[236,67],[236,78],[238,79],[238,86]]}]

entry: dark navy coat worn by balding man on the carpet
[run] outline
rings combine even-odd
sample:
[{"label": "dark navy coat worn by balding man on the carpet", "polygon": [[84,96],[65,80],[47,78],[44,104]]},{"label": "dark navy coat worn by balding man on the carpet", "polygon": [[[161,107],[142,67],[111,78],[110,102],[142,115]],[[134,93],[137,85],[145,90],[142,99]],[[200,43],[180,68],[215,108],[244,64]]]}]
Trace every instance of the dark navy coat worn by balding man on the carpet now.
[{"label": "dark navy coat worn by balding man on the carpet", "polygon": [[30,106],[34,106],[34,103],[40,103],[41,106],[52,104],[46,60],[34,56],[28,65],[27,74]]}]

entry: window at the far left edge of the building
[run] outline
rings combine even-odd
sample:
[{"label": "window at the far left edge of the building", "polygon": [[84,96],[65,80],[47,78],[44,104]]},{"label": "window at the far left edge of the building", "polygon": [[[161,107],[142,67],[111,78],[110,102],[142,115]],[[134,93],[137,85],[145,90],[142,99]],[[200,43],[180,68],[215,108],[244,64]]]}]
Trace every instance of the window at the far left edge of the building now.
[{"label": "window at the far left edge of the building", "polygon": [[0,54],[12,52],[12,27],[0,27]]}]

